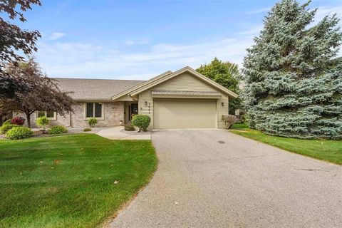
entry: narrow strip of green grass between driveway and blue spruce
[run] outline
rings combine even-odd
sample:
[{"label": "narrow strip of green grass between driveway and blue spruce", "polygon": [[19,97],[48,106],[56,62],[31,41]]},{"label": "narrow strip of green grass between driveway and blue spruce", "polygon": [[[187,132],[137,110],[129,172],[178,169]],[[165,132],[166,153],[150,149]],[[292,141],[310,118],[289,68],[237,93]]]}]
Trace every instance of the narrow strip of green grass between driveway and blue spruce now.
[{"label": "narrow strip of green grass between driveway and blue spruce", "polygon": [[244,124],[234,124],[232,133],[252,138],[259,142],[274,145],[284,150],[296,152],[300,155],[314,157],[342,165],[342,141],[341,140],[300,140],[295,138],[283,138],[261,133],[259,130],[249,129]]}]

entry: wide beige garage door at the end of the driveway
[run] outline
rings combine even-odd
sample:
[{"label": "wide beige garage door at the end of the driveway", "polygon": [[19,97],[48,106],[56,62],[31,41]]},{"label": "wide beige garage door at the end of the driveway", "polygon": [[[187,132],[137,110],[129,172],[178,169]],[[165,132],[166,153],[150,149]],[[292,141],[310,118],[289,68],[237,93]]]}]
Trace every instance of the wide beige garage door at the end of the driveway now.
[{"label": "wide beige garage door at the end of the driveway", "polygon": [[216,100],[154,100],[153,128],[217,128]]}]

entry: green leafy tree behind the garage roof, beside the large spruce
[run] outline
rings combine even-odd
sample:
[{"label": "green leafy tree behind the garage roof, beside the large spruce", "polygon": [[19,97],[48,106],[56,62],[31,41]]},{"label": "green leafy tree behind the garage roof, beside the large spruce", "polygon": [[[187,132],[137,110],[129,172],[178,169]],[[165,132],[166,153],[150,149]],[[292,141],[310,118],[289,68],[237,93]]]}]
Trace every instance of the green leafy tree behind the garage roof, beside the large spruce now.
[{"label": "green leafy tree behind the garage roof, beside the large spruce", "polygon": [[[198,73],[212,79],[221,86],[232,90],[239,94],[239,68],[237,64],[220,61],[214,58],[211,63],[201,65],[196,69]],[[239,108],[241,103],[240,98],[229,99],[229,113],[234,115],[234,112]]]}]

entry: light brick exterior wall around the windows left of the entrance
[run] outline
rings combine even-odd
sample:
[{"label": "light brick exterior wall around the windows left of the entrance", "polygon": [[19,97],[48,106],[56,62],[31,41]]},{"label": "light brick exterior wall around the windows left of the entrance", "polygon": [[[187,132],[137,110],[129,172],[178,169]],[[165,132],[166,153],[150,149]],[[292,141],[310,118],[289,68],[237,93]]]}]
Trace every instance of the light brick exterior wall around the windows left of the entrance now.
[{"label": "light brick exterior wall around the windows left of the entrance", "polygon": [[[97,128],[113,127],[119,125],[120,120],[124,120],[124,102],[104,102],[104,120],[98,120]],[[73,105],[73,113],[66,114],[65,117],[58,115],[56,120],[51,120],[50,125],[63,125],[73,128],[88,128],[88,120],[84,120],[83,114],[84,103],[78,102]],[[22,116],[26,119],[23,113],[14,113],[14,116]],[[25,121],[27,125],[27,121]],[[31,115],[31,128],[37,128],[36,113]]]}]

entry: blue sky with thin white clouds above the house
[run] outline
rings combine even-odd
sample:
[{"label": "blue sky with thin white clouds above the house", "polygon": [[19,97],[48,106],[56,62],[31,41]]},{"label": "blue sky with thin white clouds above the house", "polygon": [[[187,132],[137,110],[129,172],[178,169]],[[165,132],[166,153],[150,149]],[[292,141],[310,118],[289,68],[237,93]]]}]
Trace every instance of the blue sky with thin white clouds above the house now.
[{"label": "blue sky with thin white clouds above the house", "polygon": [[[271,0],[41,0],[21,28],[38,30],[36,60],[56,78],[147,80],[214,57],[242,66]],[[304,2],[304,1],[301,1]],[[316,20],[341,0],[314,0]]]}]

